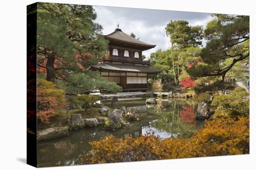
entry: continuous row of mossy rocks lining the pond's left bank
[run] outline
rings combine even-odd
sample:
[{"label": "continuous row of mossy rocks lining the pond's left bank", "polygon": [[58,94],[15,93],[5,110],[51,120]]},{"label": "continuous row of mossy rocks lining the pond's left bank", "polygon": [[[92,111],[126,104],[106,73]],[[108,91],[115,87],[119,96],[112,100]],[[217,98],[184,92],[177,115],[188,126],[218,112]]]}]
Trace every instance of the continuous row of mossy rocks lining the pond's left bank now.
[{"label": "continuous row of mossy rocks lining the pond's left bank", "polygon": [[37,141],[66,137],[70,131],[82,128],[101,126],[108,130],[116,130],[130,126],[130,122],[141,120],[141,110],[137,107],[131,107],[128,111],[125,107],[120,107],[110,112],[108,107],[102,106],[99,112],[102,116],[90,119],[83,119],[80,113],[71,114],[67,126],[38,131]]}]

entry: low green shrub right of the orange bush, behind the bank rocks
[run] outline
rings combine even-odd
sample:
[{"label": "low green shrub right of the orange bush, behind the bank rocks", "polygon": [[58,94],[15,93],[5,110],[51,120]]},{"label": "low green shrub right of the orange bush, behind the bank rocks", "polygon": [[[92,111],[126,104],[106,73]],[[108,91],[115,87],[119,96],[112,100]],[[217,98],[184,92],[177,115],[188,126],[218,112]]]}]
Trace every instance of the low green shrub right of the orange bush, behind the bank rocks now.
[{"label": "low green shrub right of the orange bush, behind the bank rocks", "polygon": [[67,101],[69,103],[69,106],[72,109],[75,108],[83,108],[86,112],[88,112],[88,109],[93,106],[93,104],[98,100],[97,96],[94,95],[76,95],[76,96],[70,96],[67,98]]}]

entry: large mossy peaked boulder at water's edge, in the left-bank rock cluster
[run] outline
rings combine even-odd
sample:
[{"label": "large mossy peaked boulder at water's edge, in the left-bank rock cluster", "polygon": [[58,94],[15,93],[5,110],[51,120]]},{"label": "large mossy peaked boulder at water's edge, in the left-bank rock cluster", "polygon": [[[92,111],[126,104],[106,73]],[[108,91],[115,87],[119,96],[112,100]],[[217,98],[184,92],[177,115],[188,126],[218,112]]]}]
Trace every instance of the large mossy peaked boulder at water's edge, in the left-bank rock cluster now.
[{"label": "large mossy peaked boulder at water's edge, in the left-bank rock cluster", "polygon": [[121,118],[121,110],[115,109],[112,113],[108,114],[108,119],[105,121],[104,127],[112,130],[121,128]]}]

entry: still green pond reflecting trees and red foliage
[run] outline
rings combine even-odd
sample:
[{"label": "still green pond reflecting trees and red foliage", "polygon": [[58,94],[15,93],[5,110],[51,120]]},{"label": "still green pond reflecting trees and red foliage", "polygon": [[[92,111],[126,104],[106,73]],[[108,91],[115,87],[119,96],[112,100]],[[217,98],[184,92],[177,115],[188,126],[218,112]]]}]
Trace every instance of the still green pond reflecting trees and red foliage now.
[{"label": "still green pond reflecting trees and red foliage", "polygon": [[[78,164],[79,156],[90,150],[89,142],[112,134],[116,137],[153,133],[161,139],[188,138],[203,126],[203,121],[195,120],[194,101],[192,99],[158,99],[156,105],[146,105],[146,99],[119,101],[127,110],[130,107],[141,109],[141,120],[132,122],[129,127],[108,131],[102,127],[83,128],[71,131],[68,137],[38,142],[38,166],[61,166]],[[103,101],[110,107],[111,101]]]}]

